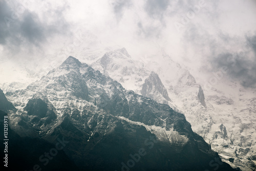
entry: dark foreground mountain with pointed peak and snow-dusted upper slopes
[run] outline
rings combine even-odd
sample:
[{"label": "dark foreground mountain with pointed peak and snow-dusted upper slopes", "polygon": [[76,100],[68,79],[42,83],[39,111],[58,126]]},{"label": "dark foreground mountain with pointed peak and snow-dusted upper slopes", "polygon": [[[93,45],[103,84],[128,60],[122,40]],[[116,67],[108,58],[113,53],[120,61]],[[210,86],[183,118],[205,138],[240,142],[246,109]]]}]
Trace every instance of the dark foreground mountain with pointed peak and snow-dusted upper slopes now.
[{"label": "dark foreground mountain with pointed peak and snow-dusted upper slopes", "polygon": [[191,130],[183,114],[125,90],[71,56],[8,99],[18,109],[8,115],[11,130],[55,145],[48,159],[35,154],[40,167],[67,156],[79,170],[235,170]]}]

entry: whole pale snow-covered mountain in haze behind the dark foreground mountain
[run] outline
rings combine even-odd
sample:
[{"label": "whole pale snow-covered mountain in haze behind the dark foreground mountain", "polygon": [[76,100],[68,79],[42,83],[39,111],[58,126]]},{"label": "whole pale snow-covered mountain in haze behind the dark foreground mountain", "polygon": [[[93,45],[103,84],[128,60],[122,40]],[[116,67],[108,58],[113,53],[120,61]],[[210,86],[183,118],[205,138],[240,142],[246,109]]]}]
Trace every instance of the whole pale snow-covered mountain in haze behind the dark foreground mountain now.
[{"label": "whole pale snow-covered mountain in haze behind the dark foreground mountain", "polygon": [[243,170],[255,170],[255,90],[225,79],[221,71],[196,79],[189,69],[163,52],[141,60],[125,54],[120,49],[105,53],[91,66],[119,81],[125,89],[184,113],[193,131],[224,161]]}]

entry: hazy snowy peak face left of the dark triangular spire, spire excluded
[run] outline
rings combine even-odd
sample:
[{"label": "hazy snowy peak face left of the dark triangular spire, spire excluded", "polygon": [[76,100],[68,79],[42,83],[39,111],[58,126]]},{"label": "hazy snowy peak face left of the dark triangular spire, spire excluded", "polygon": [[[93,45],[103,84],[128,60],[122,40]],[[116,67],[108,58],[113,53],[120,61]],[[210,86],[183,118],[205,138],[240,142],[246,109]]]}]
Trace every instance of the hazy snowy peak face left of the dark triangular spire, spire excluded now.
[{"label": "hazy snowy peak face left of the dark triangular spire, spire excluded", "polygon": [[105,53],[91,66],[120,83],[125,82],[125,89],[140,93],[143,81],[150,74],[150,71],[141,69],[141,65],[122,48]]}]

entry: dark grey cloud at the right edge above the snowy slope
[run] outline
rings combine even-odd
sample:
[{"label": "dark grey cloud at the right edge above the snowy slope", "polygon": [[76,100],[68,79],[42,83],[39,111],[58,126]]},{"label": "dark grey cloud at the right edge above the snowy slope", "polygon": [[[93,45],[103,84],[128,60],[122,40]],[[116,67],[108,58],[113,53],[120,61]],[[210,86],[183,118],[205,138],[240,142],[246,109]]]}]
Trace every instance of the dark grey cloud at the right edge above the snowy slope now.
[{"label": "dark grey cloud at the right edge above the snowy slope", "polygon": [[[256,37],[255,37],[256,38]],[[254,38],[253,38],[254,39]],[[253,40],[249,39],[249,40]],[[255,88],[256,87],[256,45],[255,41],[248,41],[248,44],[254,51],[254,56],[249,58],[248,52],[237,54],[223,53],[216,58],[211,59],[211,65],[216,71],[218,69],[227,68],[227,76],[239,79],[242,86]]]}]

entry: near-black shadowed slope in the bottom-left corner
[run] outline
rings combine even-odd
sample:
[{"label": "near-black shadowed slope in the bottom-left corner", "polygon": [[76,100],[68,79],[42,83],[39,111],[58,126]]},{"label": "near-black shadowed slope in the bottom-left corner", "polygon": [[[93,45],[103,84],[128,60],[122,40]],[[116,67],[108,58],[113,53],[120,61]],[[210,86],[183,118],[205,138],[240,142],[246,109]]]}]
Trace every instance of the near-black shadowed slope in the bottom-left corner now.
[{"label": "near-black shadowed slope in the bottom-left corner", "polygon": [[[0,111],[0,118],[7,116],[6,113]],[[3,122],[0,122],[1,128],[4,127]],[[4,130],[0,130],[1,135],[4,135]],[[1,170],[79,170],[72,160],[65,154],[63,150],[57,150],[57,154],[48,159],[45,153],[54,153],[56,149],[55,143],[49,143],[46,140],[39,138],[20,137],[8,126],[8,168],[1,167]],[[68,139],[66,139],[68,140]],[[0,145],[4,149],[3,143]],[[54,152],[53,152],[54,151]],[[4,150],[1,150],[1,158],[4,158]],[[42,162],[40,162],[40,158]],[[37,166],[38,165],[38,166]]]}]

